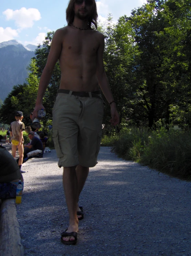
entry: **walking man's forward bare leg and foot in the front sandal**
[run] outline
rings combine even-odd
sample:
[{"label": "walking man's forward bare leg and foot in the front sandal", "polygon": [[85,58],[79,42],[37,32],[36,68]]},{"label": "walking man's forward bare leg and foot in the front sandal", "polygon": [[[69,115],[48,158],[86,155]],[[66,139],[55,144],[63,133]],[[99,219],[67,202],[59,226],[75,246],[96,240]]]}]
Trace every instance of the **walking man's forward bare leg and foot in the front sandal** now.
[{"label": "walking man's forward bare leg and foot in the front sandal", "polygon": [[[78,180],[76,175],[76,166],[64,167],[63,170],[63,187],[70,216],[67,232],[78,232],[78,217],[76,205],[78,203]],[[64,241],[74,241],[73,236],[62,238]]]}]

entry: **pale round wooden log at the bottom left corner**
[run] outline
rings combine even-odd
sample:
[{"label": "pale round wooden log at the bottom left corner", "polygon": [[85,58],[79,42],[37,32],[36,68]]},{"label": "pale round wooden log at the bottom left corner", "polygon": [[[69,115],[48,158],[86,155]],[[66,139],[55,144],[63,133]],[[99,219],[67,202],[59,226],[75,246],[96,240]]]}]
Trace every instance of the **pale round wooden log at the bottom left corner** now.
[{"label": "pale round wooden log at the bottom left corner", "polygon": [[0,209],[0,256],[23,256],[15,199],[2,201]]}]

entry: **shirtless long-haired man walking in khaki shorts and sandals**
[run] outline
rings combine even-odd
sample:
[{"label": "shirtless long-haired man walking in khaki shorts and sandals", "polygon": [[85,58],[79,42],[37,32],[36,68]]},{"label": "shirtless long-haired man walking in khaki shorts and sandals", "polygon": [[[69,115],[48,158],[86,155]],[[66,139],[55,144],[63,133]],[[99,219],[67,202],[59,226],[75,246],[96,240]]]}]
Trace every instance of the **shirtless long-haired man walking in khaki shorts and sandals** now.
[{"label": "shirtless long-haired man walking in khaki shorts and sandals", "polygon": [[[95,0],[70,0],[66,10],[68,26],[58,29],[52,39],[47,64],[40,79],[36,106],[42,99],[59,59],[61,82],[53,107],[53,140],[63,166],[63,187],[69,211],[68,229],[61,234],[63,244],[76,244],[79,195],[89,167],[97,164],[100,149],[103,101],[99,86],[111,106],[111,124],[119,115],[103,66],[104,35],[97,28]],[[78,215],[77,215],[78,212]]]}]

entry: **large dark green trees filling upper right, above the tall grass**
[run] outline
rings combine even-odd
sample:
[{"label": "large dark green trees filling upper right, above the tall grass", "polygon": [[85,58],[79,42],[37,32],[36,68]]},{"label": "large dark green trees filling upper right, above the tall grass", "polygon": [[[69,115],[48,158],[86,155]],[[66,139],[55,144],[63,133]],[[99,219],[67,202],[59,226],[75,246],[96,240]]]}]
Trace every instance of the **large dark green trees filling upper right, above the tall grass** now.
[{"label": "large dark green trees filling upper right, above the tall grass", "polygon": [[[151,127],[160,118],[169,122],[174,113],[182,116],[179,123],[189,122],[190,14],[187,0],[148,0],[127,18],[139,51],[133,72],[137,89],[131,99],[134,122]],[[176,106],[180,111],[174,112]]]}]

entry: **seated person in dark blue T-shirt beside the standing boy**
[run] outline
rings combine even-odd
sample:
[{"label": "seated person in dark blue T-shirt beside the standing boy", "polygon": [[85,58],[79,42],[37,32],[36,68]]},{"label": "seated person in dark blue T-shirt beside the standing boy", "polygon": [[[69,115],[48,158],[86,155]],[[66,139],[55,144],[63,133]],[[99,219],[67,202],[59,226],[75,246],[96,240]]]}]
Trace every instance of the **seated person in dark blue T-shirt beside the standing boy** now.
[{"label": "seated person in dark blue T-shirt beside the standing boy", "polygon": [[42,150],[43,152],[42,141],[39,138],[35,137],[33,132],[29,132],[28,136],[29,136],[29,139],[31,140],[31,143],[30,145],[23,145],[24,147],[23,159],[27,158],[27,154],[31,151],[39,149],[39,150]]}]

